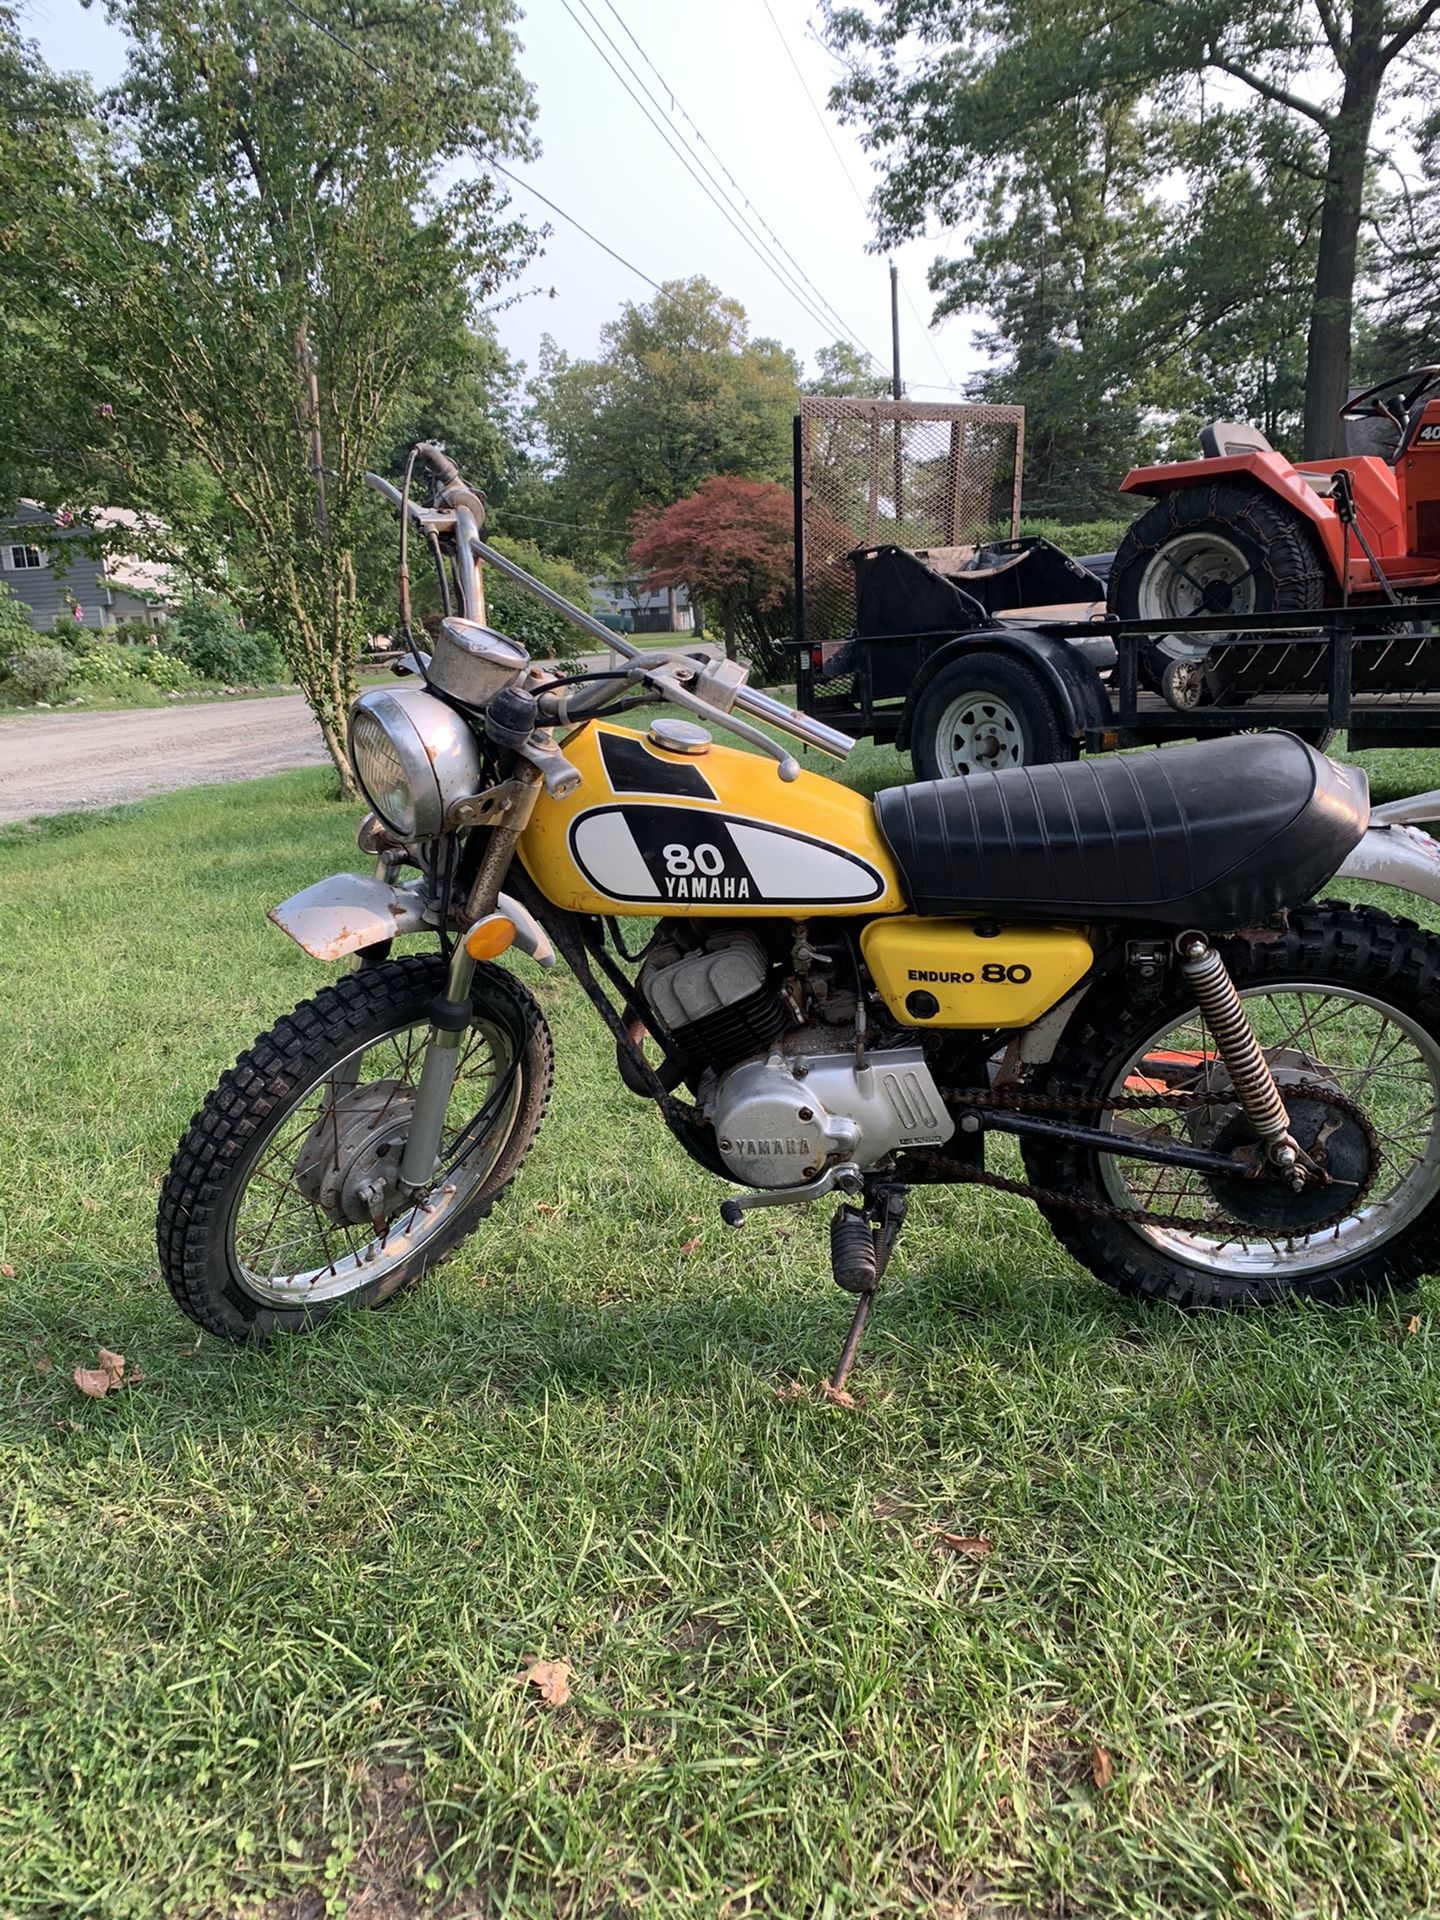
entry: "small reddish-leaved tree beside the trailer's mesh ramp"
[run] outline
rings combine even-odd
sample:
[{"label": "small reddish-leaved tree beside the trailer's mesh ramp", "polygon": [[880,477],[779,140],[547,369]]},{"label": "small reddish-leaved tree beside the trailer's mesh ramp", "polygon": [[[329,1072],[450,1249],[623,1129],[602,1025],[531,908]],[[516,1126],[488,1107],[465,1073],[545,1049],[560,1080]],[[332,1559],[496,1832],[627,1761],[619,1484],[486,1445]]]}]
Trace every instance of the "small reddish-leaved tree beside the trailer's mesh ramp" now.
[{"label": "small reddish-leaved tree beside the trailer's mesh ramp", "polygon": [[766,685],[787,676],[778,641],[795,628],[795,501],[783,486],[716,474],[641,515],[630,561],[649,586],[684,586],[691,601],[720,609],[726,659],[743,643]]}]

